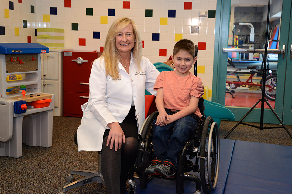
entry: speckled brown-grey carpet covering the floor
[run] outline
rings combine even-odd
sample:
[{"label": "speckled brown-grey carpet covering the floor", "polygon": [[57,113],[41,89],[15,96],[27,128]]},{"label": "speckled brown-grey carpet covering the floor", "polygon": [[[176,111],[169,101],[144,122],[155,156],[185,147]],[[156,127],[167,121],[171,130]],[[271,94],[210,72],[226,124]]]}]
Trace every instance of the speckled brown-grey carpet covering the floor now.
[{"label": "speckled brown-grey carpet covering the floor", "polygon": [[[70,169],[97,171],[97,152],[78,152],[74,132],[81,118],[53,117],[53,145],[50,148],[22,144],[22,157],[0,157],[0,193],[53,193],[62,192],[68,183],[65,176]],[[222,121],[223,138],[236,122]],[[273,125],[267,125],[273,126]],[[292,126],[287,125],[292,133]],[[263,142],[292,146],[292,139],[284,129],[259,130],[239,125],[227,139]],[[74,180],[82,176],[75,176]],[[69,190],[67,193],[106,193],[105,187],[96,183]]]}]

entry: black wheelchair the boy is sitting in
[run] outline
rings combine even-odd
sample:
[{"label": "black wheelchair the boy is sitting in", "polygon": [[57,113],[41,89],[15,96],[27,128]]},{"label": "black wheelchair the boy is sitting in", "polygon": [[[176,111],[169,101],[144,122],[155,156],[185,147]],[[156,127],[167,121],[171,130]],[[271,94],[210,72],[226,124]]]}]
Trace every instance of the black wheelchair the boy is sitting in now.
[{"label": "black wheelchair the boy is sitting in", "polygon": [[[199,105],[203,104],[204,99],[201,98]],[[219,127],[216,122],[213,121],[212,117],[204,115],[204,108],[200,108],[202,117],[199,120],[197,130],[190,136],[190,139],[185,143],[184,148],[178,154],[177,172],[172,178],[166,178],[158,175],[146,175],[145,169],[151,164],[153,154],[153,121],[158,116],[158,112],[155,111],[149,115],[139,132],[139,152],[136,161],[136,165],[133,166],[129,171],[128,193],[136,193],[136,183],[134,181],[134,172],[140,179],[140,188],[146,189],[147,183],[155,178],[175,180],[176,192],[184,193],[183,183],[184,180],[194,181],[196,183],[196,192],[210,193],[212,189],[215,189],[218,172],[219,172],[219,159],[220,159],[220,139],[219,139]],[[203,109],[203,110],[201,110]],[[193,163],[189,159],[194,159]],[[194,174],[188,174],[193,171],[198,173],[200,178]]]}]

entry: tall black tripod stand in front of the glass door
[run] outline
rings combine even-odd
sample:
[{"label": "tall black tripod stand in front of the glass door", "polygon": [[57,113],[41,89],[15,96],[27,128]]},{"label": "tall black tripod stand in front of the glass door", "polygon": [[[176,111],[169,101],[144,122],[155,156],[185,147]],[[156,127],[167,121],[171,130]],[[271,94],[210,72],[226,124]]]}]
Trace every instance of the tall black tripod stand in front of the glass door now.
[{"label": "tall black tripod stand in front of the glass door", "polygon": [[[285,124],[282,122],[282,120],[279,118],[279,116],[277,115],[277,113],[274,111],[273,107],[270,105],[270,103],[267,101],[267,99],[265,99],[265,90],[266,90],[266,75],[267,75],[267,69],[266,69],[266,62],[267,62],[267,54],[268,54],[268,31],[269,31],[269,20],[270,20],[270,3],[271,0],[269,0],[268,3],[268,16],[267,16],[267,27],[266,27],[266,42],[265,42],[265,52],[264,52],[264,68],[263,68],[263,83],[262,83],[262,98],[259,99],[256,104],[254,104],[252,106],[251,109],[249,109],[249,111],[239,120],[239,122],[236,123],[236,125],[225,135],[224,138],[227,138],[227,136],[239,125],[248,125],[251,127],[255,127],[258,128],[260,130],[263,129],[273,129],[273,128],[284,128],[286,130],[286,132],[289,134],[290,138],[292,138],[291,133],[288,131],[287,127],[285,126]],[[260,117],[260,126],[256,126],[256,125],[250,125],[247,123],[242,123],[243,119],[246,118],[246,116],[256,107],[257,104],[259,104],[259,102],[261,102],[261,117]],[[269,108],[272,110],[273,114],[277,117],[277,119],[279,120],[279,122],[281,123],[281,127],[264,127],[263,126],[263,120],[264,120],[264,104],[266,104],[269,106]]]}]

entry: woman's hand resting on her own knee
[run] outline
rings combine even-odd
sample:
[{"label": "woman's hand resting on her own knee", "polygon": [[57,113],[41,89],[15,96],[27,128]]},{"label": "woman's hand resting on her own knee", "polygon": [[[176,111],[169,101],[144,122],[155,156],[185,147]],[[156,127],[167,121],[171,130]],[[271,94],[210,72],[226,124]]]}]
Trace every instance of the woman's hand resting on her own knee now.
[{"label": "woman's hand resting on her own knee", "polygon": [[109,142],[111,142],[110,149],[112,149],[115,144],[115,151],[117,151],[118,149],[121,149],[122,142],[125,143],[126,138],[124,132],[118,122],[109,123],[108,127],[110,130],[106,145],[108,146]]}]

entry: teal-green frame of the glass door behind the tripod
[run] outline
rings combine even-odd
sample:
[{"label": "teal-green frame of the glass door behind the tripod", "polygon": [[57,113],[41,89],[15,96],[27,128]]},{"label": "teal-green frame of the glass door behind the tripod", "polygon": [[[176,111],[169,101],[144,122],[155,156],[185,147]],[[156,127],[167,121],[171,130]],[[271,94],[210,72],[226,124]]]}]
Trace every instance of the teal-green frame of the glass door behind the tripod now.
[{"label": "teal-green frame of the glass door behind the tripod", "polygon": [[[227,70],[228,53],[223,53],[222,50],[223,48],[228,48],[231,0],[217,0],[216,10],[217,12],[216,12],[216,24],[215,24],[212,101],[225,105],[225,87],[226,87],[226,70]],[[280,29],[281,36],[280,36],[280,41],[279,41],[279,45],[280,45],[279,47],[282,49],[283,44],[285,44],[286,53],[288,50],[287,37],[289,36],[289,28],[287,28],[287,26],[289,27],[290,25],[290,15],[291,15],[291,0],[283,0],[282,18],[285,18],[285,19],[281,20],[281,29]],[[290,51],[290,48],[289,48],[289,51]],[[286,72],[285,68],[286,68],[286,62],[287,62],[287,54],[285,55],[284,59],[282,59],[282,54],[279,54],[280,60],[278,62],[278,72],[284,72],[284,74]],[[285,76],[277,76],[276,96],[283,96],[284,86],[285,86]],[[292,92],[290,92],[290,94],[291,93]],[[276,98],[275,111],[277,112],[277,115],[280,117],[280,119],[283,119],[283,105],[284,105],[283,103],[284,103],[283,99]],[[233,107],[233,106],[226,106],[226,108],[230,109],[233,112],[233,114],[235,115],[236,121],[239,121],[250,109],[249,107]],[[290,106],[290,111],[291,111],[291,106]],[[252,112],[250,112],[249,115],[246,116],[244,121],[259,122],[260,108],[253,109]],[[270,109],[265,109],[264,111],[264,122],[274,123],[274,124],[280,123]]]}]

